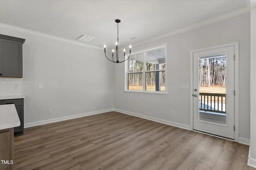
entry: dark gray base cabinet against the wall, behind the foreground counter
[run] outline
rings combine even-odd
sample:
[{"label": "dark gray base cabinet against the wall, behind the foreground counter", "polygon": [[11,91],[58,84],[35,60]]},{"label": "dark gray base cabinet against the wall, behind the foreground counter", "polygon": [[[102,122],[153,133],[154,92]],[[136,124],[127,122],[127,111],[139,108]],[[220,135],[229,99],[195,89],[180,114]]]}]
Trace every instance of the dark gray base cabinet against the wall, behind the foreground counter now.
[{"label": "dark gray base cabinet against the wall, behind the foreground counter", "polygon": [[0,100],[0,105],[14,104],[20,118],[20,126],[14,127],[14,135],[22,134],[24,131],[24,99]]}]

